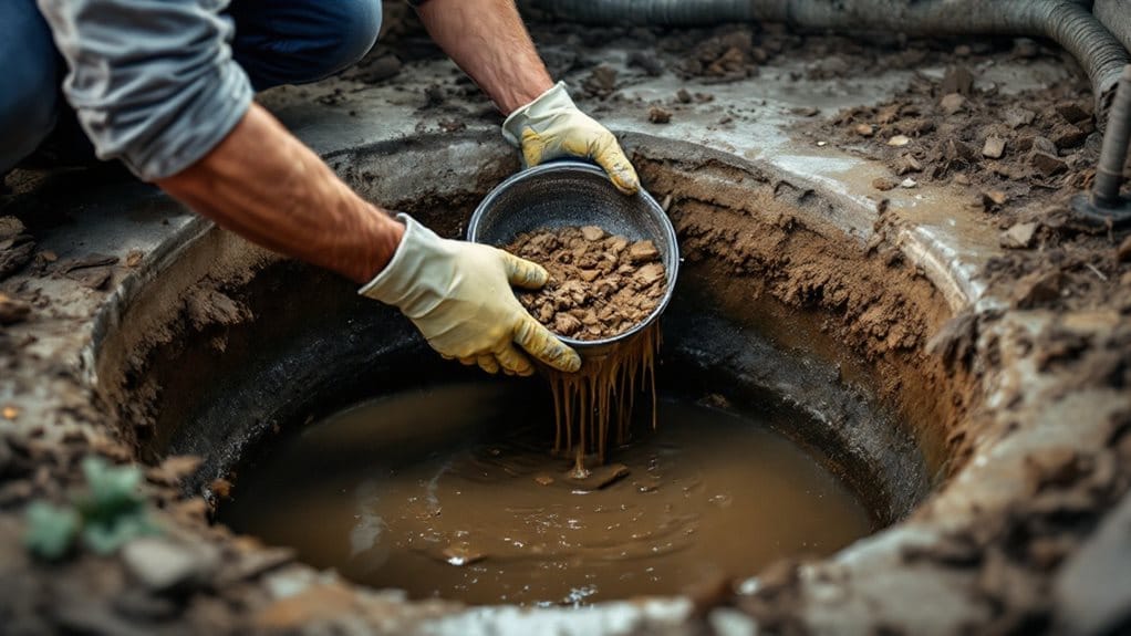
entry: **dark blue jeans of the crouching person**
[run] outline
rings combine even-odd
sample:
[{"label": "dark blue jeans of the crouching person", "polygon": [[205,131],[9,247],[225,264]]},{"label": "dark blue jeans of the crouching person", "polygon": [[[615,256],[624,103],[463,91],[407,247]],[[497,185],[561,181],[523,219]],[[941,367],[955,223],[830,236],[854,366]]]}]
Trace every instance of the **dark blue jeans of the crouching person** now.
[{"label": "dark blue jeans of the crouching person", "polygon": [[[304,84],[360,60],[381,29],[381,0],[233,0],[232,52],[256,90]],[[0,0],[0,175],[74,120],[67,69],[35,0]],[[81,140],[85,142],[85,139]]]}]

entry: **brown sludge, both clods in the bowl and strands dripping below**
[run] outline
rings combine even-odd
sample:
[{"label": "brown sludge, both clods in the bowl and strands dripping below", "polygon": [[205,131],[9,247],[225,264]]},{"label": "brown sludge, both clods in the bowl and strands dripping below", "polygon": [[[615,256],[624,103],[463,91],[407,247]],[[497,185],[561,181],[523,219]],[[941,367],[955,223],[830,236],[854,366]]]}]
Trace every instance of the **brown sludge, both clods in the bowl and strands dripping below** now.
[{"label": "brown sludge, both clods in the bowl and strands dripping below", "polygon": [[[546,268],[550,281],[519,300],[559,336],[597,340],[623,333],[656,310],[667,288],[667,272],[651,241],[630,241],[596,226],[520,234],[507,250]],[[615,413],[616,444],[629,438],[638,390],[649,382],[655,426],[654,361],[657,324],[633,334],[602,357],[589,357],[577,373],[550,371],[554,397],[555,452],[575,452],[572,478],[585,479],[587,451],[604,463]]]}]

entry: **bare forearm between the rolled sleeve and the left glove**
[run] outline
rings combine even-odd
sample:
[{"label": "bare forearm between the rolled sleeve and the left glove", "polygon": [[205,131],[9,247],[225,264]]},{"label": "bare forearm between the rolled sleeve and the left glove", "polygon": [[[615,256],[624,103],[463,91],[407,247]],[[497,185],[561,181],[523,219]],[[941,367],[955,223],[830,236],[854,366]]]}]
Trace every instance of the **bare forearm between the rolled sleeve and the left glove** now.
[{"label": "bare forearm between the rolled sleeve and the left glove", "polygon": [[157,185],[221,227],[357,282],[385,268],[404,234],[256,104],[208,155]]}]

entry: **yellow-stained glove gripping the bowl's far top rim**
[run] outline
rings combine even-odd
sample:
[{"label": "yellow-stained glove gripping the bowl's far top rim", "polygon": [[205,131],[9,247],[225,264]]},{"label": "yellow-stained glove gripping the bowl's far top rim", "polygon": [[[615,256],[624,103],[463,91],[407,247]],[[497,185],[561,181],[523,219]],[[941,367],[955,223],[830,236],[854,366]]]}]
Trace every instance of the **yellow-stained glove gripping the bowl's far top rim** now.
[{"label": "yellow-stained glove gripping the bowl's far top rim", "polygon": [[521,148],[526,166],[564,156],[582,157],[605,168],[621,192],[636,194],[640,189],[640,178],[616,138],[577,110],[566,93],[566,82],[559,81],[537,99],[511,113],[502,124],[502,136]]}]

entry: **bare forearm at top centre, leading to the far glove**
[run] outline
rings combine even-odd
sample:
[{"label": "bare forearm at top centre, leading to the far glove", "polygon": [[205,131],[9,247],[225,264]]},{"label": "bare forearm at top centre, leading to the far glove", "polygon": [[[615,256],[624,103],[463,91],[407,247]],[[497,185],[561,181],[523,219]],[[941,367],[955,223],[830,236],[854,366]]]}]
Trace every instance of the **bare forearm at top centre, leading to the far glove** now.
[{"label": "bare forearm at top centre, leading to the far glove", "polygon": [[429,0],[418,14],[432,40],[504,115],[553,86],[513,0]]}]

